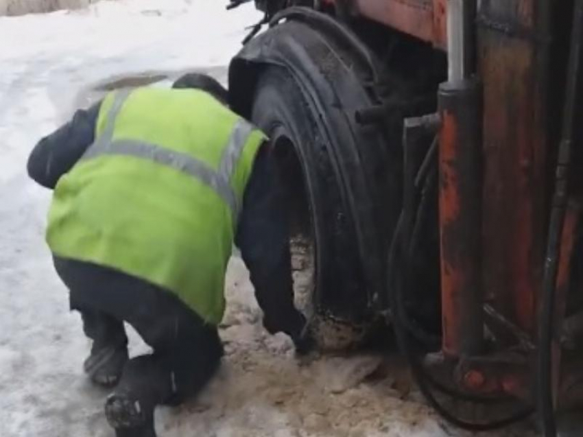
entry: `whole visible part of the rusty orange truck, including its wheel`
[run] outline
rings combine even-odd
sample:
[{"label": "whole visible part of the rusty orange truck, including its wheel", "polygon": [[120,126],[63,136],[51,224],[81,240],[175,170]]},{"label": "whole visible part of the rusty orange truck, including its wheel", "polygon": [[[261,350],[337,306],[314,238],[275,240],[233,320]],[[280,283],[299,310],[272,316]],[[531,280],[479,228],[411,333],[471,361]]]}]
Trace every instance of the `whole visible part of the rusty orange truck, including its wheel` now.
[{"label": "whole visible part of the rusty orange truck, including its wheel", "polygon": [[314,319],[388,322],[456,425],[556,436],[583,400],[583,0],[255,3],[231,104],[270,136]]}]

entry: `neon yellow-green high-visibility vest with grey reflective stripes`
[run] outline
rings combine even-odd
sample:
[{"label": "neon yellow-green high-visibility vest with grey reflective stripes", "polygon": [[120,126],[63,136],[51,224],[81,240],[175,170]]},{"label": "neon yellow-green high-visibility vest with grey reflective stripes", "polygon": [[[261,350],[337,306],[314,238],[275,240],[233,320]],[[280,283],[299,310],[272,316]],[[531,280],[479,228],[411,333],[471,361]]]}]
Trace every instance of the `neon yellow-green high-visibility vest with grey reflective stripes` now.
[{"label": "neon yellow-green high-visibility vest with grey reflective stripes", "polygon": [[218,324],[264,134],[207,93],[163,88],[110,93],[95,133],[54,190],[49,247],[159,285]]}]

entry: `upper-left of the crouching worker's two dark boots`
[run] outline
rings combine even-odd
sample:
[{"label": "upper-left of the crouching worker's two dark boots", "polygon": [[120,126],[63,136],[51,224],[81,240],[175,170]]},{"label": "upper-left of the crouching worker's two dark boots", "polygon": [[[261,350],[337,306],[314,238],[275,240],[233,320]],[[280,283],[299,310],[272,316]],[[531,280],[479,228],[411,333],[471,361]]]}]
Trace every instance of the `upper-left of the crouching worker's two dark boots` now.
[{"label": "upper-left of the crouching worker's two dark boots", "polygon": [[83,363],[83,369],[94,383],[112,387],[119,381],[126,362],[128,362],[128,346],[125,341],[106,345],[93,342],[91,355]]}]

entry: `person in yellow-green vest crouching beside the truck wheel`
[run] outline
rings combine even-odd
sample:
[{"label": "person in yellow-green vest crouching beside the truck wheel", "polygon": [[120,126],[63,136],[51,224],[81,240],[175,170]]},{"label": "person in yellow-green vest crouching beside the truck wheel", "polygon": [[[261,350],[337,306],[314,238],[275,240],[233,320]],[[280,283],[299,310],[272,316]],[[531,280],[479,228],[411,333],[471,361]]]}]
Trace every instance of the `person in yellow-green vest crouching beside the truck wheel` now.
[{"label": "person in yellow-green vest crouching beside the truck wheel", "polygon": [[[93,340],[84,370],[117,387],[117,436],[155,436],[154,408],[197,393],[223,355],[217,333],[233,242],[267,331],[298,351],[289,237],[265,136],[204,75],[115,91],[41,140],[29,175],[53,189],[47,242]],[[204,90],[204,91],[203,91]],[[128,322],[152,346],[128,359]]]}]

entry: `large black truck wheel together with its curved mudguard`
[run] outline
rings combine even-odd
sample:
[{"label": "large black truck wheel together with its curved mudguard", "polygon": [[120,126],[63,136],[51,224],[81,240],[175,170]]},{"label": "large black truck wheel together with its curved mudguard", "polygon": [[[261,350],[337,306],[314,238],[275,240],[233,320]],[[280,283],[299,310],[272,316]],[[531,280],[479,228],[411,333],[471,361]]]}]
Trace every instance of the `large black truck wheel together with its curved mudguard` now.
[{"label": "large black truck wheel together with its curved mudguard", "polygon": [[230,105],[267,133],[278,158],[302,307],[358,337],[389,314],[403,111],[416,93],[348,27],[307,8],[282,13],[231,60]]}]

